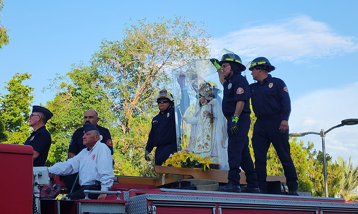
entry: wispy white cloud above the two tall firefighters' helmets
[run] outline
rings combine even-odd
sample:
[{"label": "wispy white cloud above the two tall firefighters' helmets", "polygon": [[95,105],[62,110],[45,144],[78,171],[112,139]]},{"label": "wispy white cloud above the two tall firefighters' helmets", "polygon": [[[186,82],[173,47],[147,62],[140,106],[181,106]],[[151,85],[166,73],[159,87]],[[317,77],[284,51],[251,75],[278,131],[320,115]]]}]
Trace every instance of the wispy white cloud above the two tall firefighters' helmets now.
[{"label": "wispy white cloud above the two tall firefighters' helmets", "polygon": [[[257,55],[276,61],[299,63],[308,59],[342,55],[358,49],[357,39],[332,32],[324,22],[298,16],[278,23],[253,26],[212,40],[213,53],[222,48],[252,59]],[[299,61],[297,59],[300,59]]]}]

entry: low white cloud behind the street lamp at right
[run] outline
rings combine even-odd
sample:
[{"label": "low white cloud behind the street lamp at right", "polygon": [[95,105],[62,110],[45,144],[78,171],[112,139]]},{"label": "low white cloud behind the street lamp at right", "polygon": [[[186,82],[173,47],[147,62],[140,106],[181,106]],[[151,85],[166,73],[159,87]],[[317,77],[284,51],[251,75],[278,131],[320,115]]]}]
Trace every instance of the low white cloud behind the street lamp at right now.
[{"label": "low white cloud behind the street lamp at right", "polygon": [[[347,118],[358,118],[358,82],[344,88],[332,88],[312,92],[292,102],[289,119],[290,132],[315,131],[338,125]],[[304,116],[303,116],[304,115]],[[321,137],[307,135],[299,138],[305,143],[315,143],[322,150]],[[358,165],[358,125],[344,126],[331,130],[325,137],[326,153],[333,159],[342,156],[348,160],[352,156]]]}]

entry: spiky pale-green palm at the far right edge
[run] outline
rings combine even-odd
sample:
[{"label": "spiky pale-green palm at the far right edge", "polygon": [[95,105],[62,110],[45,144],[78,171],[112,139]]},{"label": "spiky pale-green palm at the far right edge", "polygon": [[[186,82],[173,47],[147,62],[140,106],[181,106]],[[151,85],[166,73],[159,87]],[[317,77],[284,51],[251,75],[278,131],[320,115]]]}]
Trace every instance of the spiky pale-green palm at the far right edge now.
[{"label": "spiky pale-green palm at the far right edge", "polygon": [[343,176],[339,183],[339,191],[337,196],[345,200],[357,200],[358,194],[356,188],[358,186],[358,167],[353,167],[349,161],[345,161],[341,156],[338,156],[338,165],[343,168]]}]

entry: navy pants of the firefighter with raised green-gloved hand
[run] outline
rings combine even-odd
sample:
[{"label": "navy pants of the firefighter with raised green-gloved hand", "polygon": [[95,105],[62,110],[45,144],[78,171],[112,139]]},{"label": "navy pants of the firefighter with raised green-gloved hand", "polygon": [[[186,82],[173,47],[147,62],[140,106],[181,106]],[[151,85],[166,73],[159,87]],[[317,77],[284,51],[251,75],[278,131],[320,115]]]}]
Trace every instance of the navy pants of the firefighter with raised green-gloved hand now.
[{"label": "navy pants of the firefighter with raised green-gloved hand", "polygon": [[228,120],[228,157],[229,157],[229,183],[240,185],[240,167],[245,172],[248,188],[258,188],[257,175],[249,149],[250,114],[242,113],[239,117],[238,133],[232,134],[231,120]]}]

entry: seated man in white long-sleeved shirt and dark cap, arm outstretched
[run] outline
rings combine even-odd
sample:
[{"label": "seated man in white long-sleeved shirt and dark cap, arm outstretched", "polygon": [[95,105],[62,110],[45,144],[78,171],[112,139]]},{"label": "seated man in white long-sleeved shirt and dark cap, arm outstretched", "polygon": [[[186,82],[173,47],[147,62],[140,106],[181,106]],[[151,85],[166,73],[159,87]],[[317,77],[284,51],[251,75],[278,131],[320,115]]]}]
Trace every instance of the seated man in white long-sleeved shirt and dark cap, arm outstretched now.
[{"label": "seated man in white long-sleeved shirt and dark cap, arm outstretched", "polygon": [[[78,200],[85,197],[84,190],[109,191],[113,185],[112,156],[109,148],[100,142],[99,130],[92,124],[84,124],[83,149],[73,158],[49,167],[49,172],[56,175],[79,173],[81,190],[67,195],[69,199]],[[106,194],[89,194],[89,198],[104,200]]]}]

